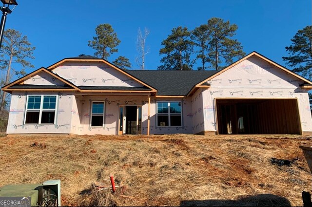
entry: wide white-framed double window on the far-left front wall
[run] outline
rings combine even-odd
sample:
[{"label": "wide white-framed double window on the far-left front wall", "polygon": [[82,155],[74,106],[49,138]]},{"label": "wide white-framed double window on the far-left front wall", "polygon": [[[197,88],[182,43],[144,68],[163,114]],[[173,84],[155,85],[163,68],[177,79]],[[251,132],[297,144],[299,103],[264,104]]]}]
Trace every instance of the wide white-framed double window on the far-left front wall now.
[{"label": "wide white-framed double window on the far-left front wall", "polygon": [[28,95],[25,124],[54,124],[56,95]]}]

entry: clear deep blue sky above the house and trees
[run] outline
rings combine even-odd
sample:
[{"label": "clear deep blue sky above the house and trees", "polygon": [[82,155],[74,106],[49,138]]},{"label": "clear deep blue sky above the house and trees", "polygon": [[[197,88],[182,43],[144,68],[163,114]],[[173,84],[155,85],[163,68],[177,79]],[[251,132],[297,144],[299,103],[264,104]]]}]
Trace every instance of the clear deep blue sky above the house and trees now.
[{"label": "clear deep blue sky above the house and trees", "polygon": [[[17,0],[19,5],[8,15],[5,29],[26,35],[36,47],[31,60],[34,69],[47,67],[64,57],[93,55],[88,40],[98,24],[109,23],[121,40],[118,53],[135,63],[137,30],[147,27],[146,69],[159,66],[161,41],[177,26],[194,29],[212,17],[229,20],[238,26],[235,38],[246,54],[257,51],[286,66],[285,46],[299,29],[311,24],[310,0]],[[288,67],[289,68],[289,67]],[[195,68],[196,69],[196,68]],[[292,68],[289,68],[292,69]]]}]

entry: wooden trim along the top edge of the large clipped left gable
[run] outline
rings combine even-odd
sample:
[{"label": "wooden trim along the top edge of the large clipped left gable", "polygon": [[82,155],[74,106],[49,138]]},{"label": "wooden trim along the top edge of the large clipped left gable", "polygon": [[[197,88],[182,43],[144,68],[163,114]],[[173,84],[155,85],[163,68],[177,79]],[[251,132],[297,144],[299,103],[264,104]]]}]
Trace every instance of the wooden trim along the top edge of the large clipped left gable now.
[{"label": "wooden trim along the top edge of the large clipped left gable", "polygon": [[119,71],[120,73],[124,74],[124,75],[127,75],[128,77],[136,80],[137,82],[141,83],[142,85],[152,89],[152,92],[157,92],[157,90],[153,87],[151,87],[150,85],[144,83],[143,81],[137,79],[135,76],[132,76],[128,73],[126,73],[125,71],[119,69],[118,67],[116,67],[115,65],[113,65],[112,63],[104,60],[104,59],[63,59],[51,66],[48,67],[49,70],[54,70],[57,66],[59,66],[60,64],[62,64],[63,62],[66,62],[66,61],[76,61],[76,62],[104,62],[105,64],[111,66],[112,68],[116,69],[117,71]]}]

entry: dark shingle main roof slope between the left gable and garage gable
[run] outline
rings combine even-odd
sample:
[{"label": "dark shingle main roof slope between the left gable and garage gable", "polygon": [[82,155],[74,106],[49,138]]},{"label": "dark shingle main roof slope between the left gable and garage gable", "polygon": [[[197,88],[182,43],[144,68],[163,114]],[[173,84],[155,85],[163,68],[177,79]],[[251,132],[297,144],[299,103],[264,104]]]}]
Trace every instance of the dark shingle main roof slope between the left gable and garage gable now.
[{"label": "dark shingle main roof slope between the left gable and garage gable", "polygon": [[127,70],[126,72],[156,88],[157,95],[186,95],[197,83],[218,71]]}]

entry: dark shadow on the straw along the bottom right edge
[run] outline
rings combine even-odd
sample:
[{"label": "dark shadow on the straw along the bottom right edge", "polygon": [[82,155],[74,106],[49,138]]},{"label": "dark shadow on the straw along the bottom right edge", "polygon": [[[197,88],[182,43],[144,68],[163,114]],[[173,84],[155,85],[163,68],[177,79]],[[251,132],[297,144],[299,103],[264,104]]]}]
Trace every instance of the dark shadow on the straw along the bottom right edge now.
[{"label": "dark shadow on the straw along the bottom right edge", "polygon": [[273,194],[259,194],[250,196],[241,196],[237,200],[203,200],[203,201],[181,201],[181,207],[290,207],[291,203],[287,198]]}]

